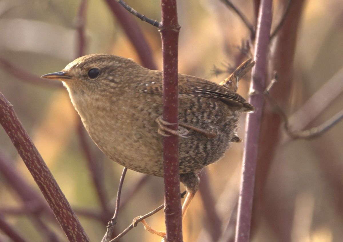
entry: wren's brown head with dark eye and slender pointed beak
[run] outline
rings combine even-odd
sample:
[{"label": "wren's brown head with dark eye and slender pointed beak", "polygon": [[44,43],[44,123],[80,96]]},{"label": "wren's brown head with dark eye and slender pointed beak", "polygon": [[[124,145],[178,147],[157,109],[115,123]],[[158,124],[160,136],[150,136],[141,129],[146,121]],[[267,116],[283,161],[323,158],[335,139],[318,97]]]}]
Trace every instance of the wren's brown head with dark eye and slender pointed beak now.
[{"label": "wren's brown head with dark eye and slender pointed beak", "polygon": [[78,94],[94,97],[126,85],[125,82],[129,82],[134,74],[141,72],[144,72],[144,68],[127,58],[93,54],[80,57],[62,71],[45,74],[42,78],[61,80],[71,98]]}]

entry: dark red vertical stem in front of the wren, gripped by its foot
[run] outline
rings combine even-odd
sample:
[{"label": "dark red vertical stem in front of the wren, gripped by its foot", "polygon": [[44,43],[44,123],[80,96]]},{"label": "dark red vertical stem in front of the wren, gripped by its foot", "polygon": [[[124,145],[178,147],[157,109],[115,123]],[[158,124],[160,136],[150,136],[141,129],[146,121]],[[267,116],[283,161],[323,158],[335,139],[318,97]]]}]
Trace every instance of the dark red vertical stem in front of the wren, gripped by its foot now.
[{"label": "dark red vertical stem in front of the wren, gripped by its foot", "polygon": [[[178,129],[178,38],[176,0],[162,0],[163,119]],[[182,242],[178,136],[163,140],[164,202],[167,241]]]}]

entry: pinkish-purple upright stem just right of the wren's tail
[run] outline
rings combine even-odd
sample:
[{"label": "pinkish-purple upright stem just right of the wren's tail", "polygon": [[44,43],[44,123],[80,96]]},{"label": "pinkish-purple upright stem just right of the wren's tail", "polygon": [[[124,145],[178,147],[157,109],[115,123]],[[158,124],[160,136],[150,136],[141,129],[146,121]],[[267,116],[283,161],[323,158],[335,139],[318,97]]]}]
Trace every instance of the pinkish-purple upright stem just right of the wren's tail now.
[{"label": "pinkish-purple upright stem just right of the wren's tail", "polygon": [[243,173],[240,184],[240,197],[238,201],[236,242],[248,242],[250,235],[252,199],[254,193],[271,22],[272,0],[262,0],[259,9],[256,48],[254,53],[256,65],[252,70],[252,82],[250,85],[251,96],[249,97],[250,104],[255,106],[256,110],[254,113],[248,114],[247,116],[246,143],[243,154]]}]

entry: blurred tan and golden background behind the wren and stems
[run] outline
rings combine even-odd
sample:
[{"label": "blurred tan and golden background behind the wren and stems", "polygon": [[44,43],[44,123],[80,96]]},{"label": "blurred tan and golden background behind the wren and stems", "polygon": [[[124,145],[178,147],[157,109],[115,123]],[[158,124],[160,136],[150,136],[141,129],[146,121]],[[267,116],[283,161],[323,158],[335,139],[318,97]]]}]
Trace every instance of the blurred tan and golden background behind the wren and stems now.
[{"label": "blurred tan and golden background behind the wren and stems", "polygon": [[[100,241],[106,232],[123,168],[106,158],[84,133],[67,90],[58,81],[55,85],[40,81],[39,76],[62,70],[80,53],[113,53],[148,65],[127,37],[126,32],[132,34],[135,30],[120,24],[109,2],[87,1],[82,19],[78,17],[79,0],[0,1],[0,91],[13,105],[91,241]],[[141,14],[161,20],[158,0],[126,2]],[[232,2],[255,26],[252,1]],[[190,0],[177,4],[181,26],[179,72],[221,82],[228,75],[225,71],[234,70],[250,57],[242,47],[250,38],[249,29],[221,1]],[[274,1],[272,29],[282,19],[284,6],[284,1]],[[295,50],[290,50],[294,52],[294,62],[291,74],[288,73],[291,91],[282,104],[294,129],[323,123],[339,112],[343,103],[343,4],[340,0],[304,1],[299,11],[298,32],[289,35],[295,42]],[[161,70],[161,38],[157,29],[133,15],[129,17],[148,43],[145,54],[151,53]],[[292,15],[288,17],[292,22]],[[84,44],[78,38],[80,26],[85,34]],[[272,51],[273,48],[272,43]],[[270,63],[270,73],[273,65]],[[218,68],[224,73],[216,76],[214,70]],[[250,74],[239,83],[238,92],[245,98],[249,80]],[[312,98],[308,112],[304,112],[306,101],[318,92],[321,95]],[[313,114],[321,106],[323,111]],[[305,124],[300,122],[305,119]],[[242,116],[243,140],[244,123]],[[310,141],[291,140],[282,127],[278,131],[270,162],[258,164],[251,241],[342,241],[343,122]],[[242,152],[243,143],[235,143],[222,160],[202,171],[200,191],[184,221],[184,241],[233,241]],[[24,198],[11,180],[10,177],[17,178],[16,182],[25,183],[42,197],[3,129],[0,158],[9,166],[2,165],[0,170],[0,216],[27,241],[67,241],[56,219],[37,209],[34,198]],[[92,161],[95,165],[90,168]],[[96,171],[92,170],[94,166]],[[163,196],[162,178],[129,170],[115,232],[120,233],[133,218],[161,205]],[[165,230],[163,211],[147,222],[157,230]],[[0,240],[11,241],[1,230]],[[160,239],[139,224],[120,241]]]}]

